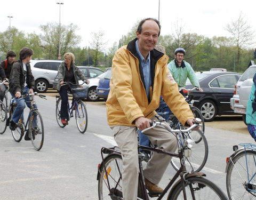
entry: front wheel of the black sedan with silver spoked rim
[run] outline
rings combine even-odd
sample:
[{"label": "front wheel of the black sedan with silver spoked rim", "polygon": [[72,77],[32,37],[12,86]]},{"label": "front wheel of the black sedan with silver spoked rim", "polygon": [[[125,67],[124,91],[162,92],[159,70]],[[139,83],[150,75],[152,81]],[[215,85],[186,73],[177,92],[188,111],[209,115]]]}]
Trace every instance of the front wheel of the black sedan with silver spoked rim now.
[{"label": "front wheel of the black sedan with silver spoked rim", "polygon": [[213,121],[217,114],[217,107],[212,100],[204,100],[199,107],[205,122]]}]

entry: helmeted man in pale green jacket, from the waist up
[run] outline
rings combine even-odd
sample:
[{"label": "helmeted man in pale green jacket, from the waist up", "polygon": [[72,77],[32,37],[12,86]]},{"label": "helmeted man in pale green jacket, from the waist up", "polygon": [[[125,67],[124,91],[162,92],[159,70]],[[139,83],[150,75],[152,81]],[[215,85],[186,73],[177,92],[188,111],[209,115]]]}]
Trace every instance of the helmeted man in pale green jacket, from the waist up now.
[{"label": "helmeted man in pale green jacket, from the waist up", "polygon": [[202,92],[199,82],[197,80],[195,71],[190,66],[188,62],[184,60],[185,58],[185,49],[177,48],[174,51],[174,60],[172,60],[168,65],[175,82],[178,83],[179,87],[185,87],[187,78],[189,78],[192,85],[199,88],[199,91]]}]

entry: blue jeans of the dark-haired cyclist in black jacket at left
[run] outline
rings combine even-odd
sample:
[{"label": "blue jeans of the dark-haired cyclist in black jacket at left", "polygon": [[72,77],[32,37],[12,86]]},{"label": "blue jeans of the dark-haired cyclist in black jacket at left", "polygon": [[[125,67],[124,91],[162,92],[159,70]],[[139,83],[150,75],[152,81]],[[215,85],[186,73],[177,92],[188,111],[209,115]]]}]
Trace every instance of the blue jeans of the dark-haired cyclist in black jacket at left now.
[{"label": "blue jeans of the dark-haired cyclist in black jacket at left", "polygon": [[[27,86],[24,87],[24,90],[23,90],[23,94],[27,94],[29,91],[29,88]],[[15,122],[15,123],[18,123],[19,122],[19,119],[22,117],[22,121],[24,119],[23,117],[23,110],[25,109],[26,105],[27,107],[31,107],[31,103],[30,103],[30,97],[26,97],[25,99],[23,98],[15,98],[15,96],[11,93],[12,97],[14,97],[15,101],[17,102],[17,107],[15,108],[14,112],[13,112],[13,115],[12,115],[12,121]],[[26,104],[25,104],[26,103]],[[37,105],[35,104],[34,105],[34,108],[37,108]]]}]

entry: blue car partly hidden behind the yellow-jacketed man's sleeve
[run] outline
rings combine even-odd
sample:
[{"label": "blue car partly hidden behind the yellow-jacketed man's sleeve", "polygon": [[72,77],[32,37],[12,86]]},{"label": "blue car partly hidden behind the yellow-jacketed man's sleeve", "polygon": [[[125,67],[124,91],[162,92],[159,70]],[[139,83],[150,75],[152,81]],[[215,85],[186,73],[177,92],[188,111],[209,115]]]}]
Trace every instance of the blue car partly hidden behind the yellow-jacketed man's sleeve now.
[{"label": "blue car partly hidden behind the yellow-jacketed man's sleeve", "polygon": [[103,98],[105,101],[108,98],[108,93],[110,90],[109,82],[110,82],[111,76],[112,76],[112,71],[111,69],[108,69],[106,73],[103,76],[101,76],[99,80],[99,85],[96,89],[98,97]]}]

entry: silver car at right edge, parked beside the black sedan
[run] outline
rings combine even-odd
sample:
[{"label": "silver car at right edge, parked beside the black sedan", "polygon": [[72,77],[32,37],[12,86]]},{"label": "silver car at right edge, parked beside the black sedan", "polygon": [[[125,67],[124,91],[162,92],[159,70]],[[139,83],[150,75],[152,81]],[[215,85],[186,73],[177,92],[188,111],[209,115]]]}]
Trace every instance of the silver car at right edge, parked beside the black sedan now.
[{"label": "silver car at right edge, parked beside the black sedan", "polygon": [[252,78],[255,73],[256,65],[252,65],[244,71],[243,75],[235,85],[233,98],[230,99],[231,109],[234,110],[234,113],[243,115],[243,121],[245,124],[247,101],[252,88]]}]

